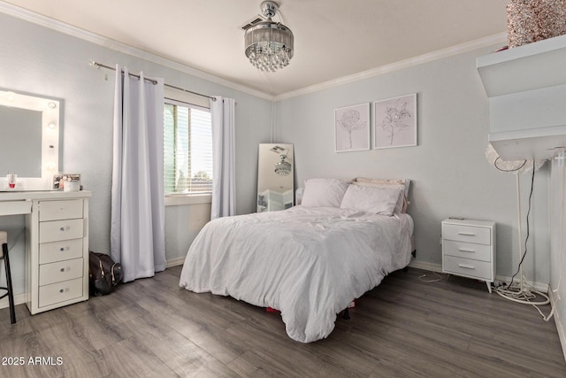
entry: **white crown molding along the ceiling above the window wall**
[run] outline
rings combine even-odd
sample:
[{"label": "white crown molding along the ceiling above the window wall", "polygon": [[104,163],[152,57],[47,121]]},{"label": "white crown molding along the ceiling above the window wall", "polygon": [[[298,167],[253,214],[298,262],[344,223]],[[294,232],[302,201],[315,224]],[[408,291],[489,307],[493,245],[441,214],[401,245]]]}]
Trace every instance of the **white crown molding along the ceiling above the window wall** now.
[{"label": "white crown molding along the ceiling above the window wall", "polygon": [[80,27],[73,27],[72,25],[66,24],[65,22],[58,21],[57,19],[50,19],[49,17],[43,16],[39,13],[27,11],[26,9],[20,8],[19,6],[13,4],[5,3],[4,1],[0,1],[0,12],[17,19],[23,19],[27,22],[31,22],[41,27],[48,27],[65,35],[71,35],[73,37],[80,38],[81,40],[87,42],[95,43],[99,46],[103,46],[111,50],[116,50],[136,58],[142,58],[149,62],[156,63],[157,65],[172,68],[176,71],[187,73],[206,81],[211,81],[215,84],[219,84],[230,89],[239,90],[243,93],[264,98],[269,101],[273,100],[272,95],[264,93],[262,91],[251,89],[241,84],[237,84],[233,81],[227,81],[226,79],[219,78],[218,76],[212,75],[210,73],[205,73],[193,67],[180,64],[169,58],[164,58],[148,51],[136,49],[132,46],[126,45],[125,43],[114,41],[102,35],[96,35],[95,33],[88,32],[87,30],[81,29]]}]

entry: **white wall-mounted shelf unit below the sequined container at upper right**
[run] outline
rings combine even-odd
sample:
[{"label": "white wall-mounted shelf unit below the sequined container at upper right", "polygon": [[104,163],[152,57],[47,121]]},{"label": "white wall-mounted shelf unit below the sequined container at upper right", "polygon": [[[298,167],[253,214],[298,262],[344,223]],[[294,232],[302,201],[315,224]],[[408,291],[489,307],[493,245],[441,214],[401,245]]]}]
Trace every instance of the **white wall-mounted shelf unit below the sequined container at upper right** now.
[{"label": "white wall-mounted shelf unit below the sequined container at upper right", "polygon": [[566,146],[566,35],[479,57],[477,67],[501,158],[547,159]]}]

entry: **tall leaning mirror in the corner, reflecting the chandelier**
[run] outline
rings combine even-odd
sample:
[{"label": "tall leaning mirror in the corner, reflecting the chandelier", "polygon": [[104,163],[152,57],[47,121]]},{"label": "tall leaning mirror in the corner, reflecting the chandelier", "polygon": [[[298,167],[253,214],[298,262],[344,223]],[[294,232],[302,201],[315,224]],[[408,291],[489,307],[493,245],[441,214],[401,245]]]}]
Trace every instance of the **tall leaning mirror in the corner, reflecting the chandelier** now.
[{"label": "tall leaning mirror in the corner, reflecting the chandelier", "polygon": [[261,143],[257,163],[257,212],[293,207],[293,144]]}]

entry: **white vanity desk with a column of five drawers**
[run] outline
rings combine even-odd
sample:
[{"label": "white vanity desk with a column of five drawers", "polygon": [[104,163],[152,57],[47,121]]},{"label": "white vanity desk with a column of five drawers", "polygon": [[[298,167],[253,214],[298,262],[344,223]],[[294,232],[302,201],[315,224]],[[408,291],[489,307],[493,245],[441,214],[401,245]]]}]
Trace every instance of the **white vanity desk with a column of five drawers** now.
[{"label": "white vanity desk with a column of five drawers", "polygon": [[26,304],[34,314],[88,299],[87,190],[3,191],[0,216],[26,218]]}]

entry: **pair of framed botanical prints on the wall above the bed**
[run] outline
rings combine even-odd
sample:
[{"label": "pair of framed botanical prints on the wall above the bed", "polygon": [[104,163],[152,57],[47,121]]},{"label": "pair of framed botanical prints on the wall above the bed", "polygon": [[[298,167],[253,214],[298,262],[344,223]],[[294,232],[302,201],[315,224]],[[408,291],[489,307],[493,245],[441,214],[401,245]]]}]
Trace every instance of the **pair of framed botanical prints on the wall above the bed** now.
[{"label": "pair of framed botanical prints on the wall above the bed", "polygon": [[[334,110],[336,152],[417,145],[417,94],[356,104]],[[372,130],[372,137],[371,131]],[[372,140],[372,143],[370,142]]]}]

